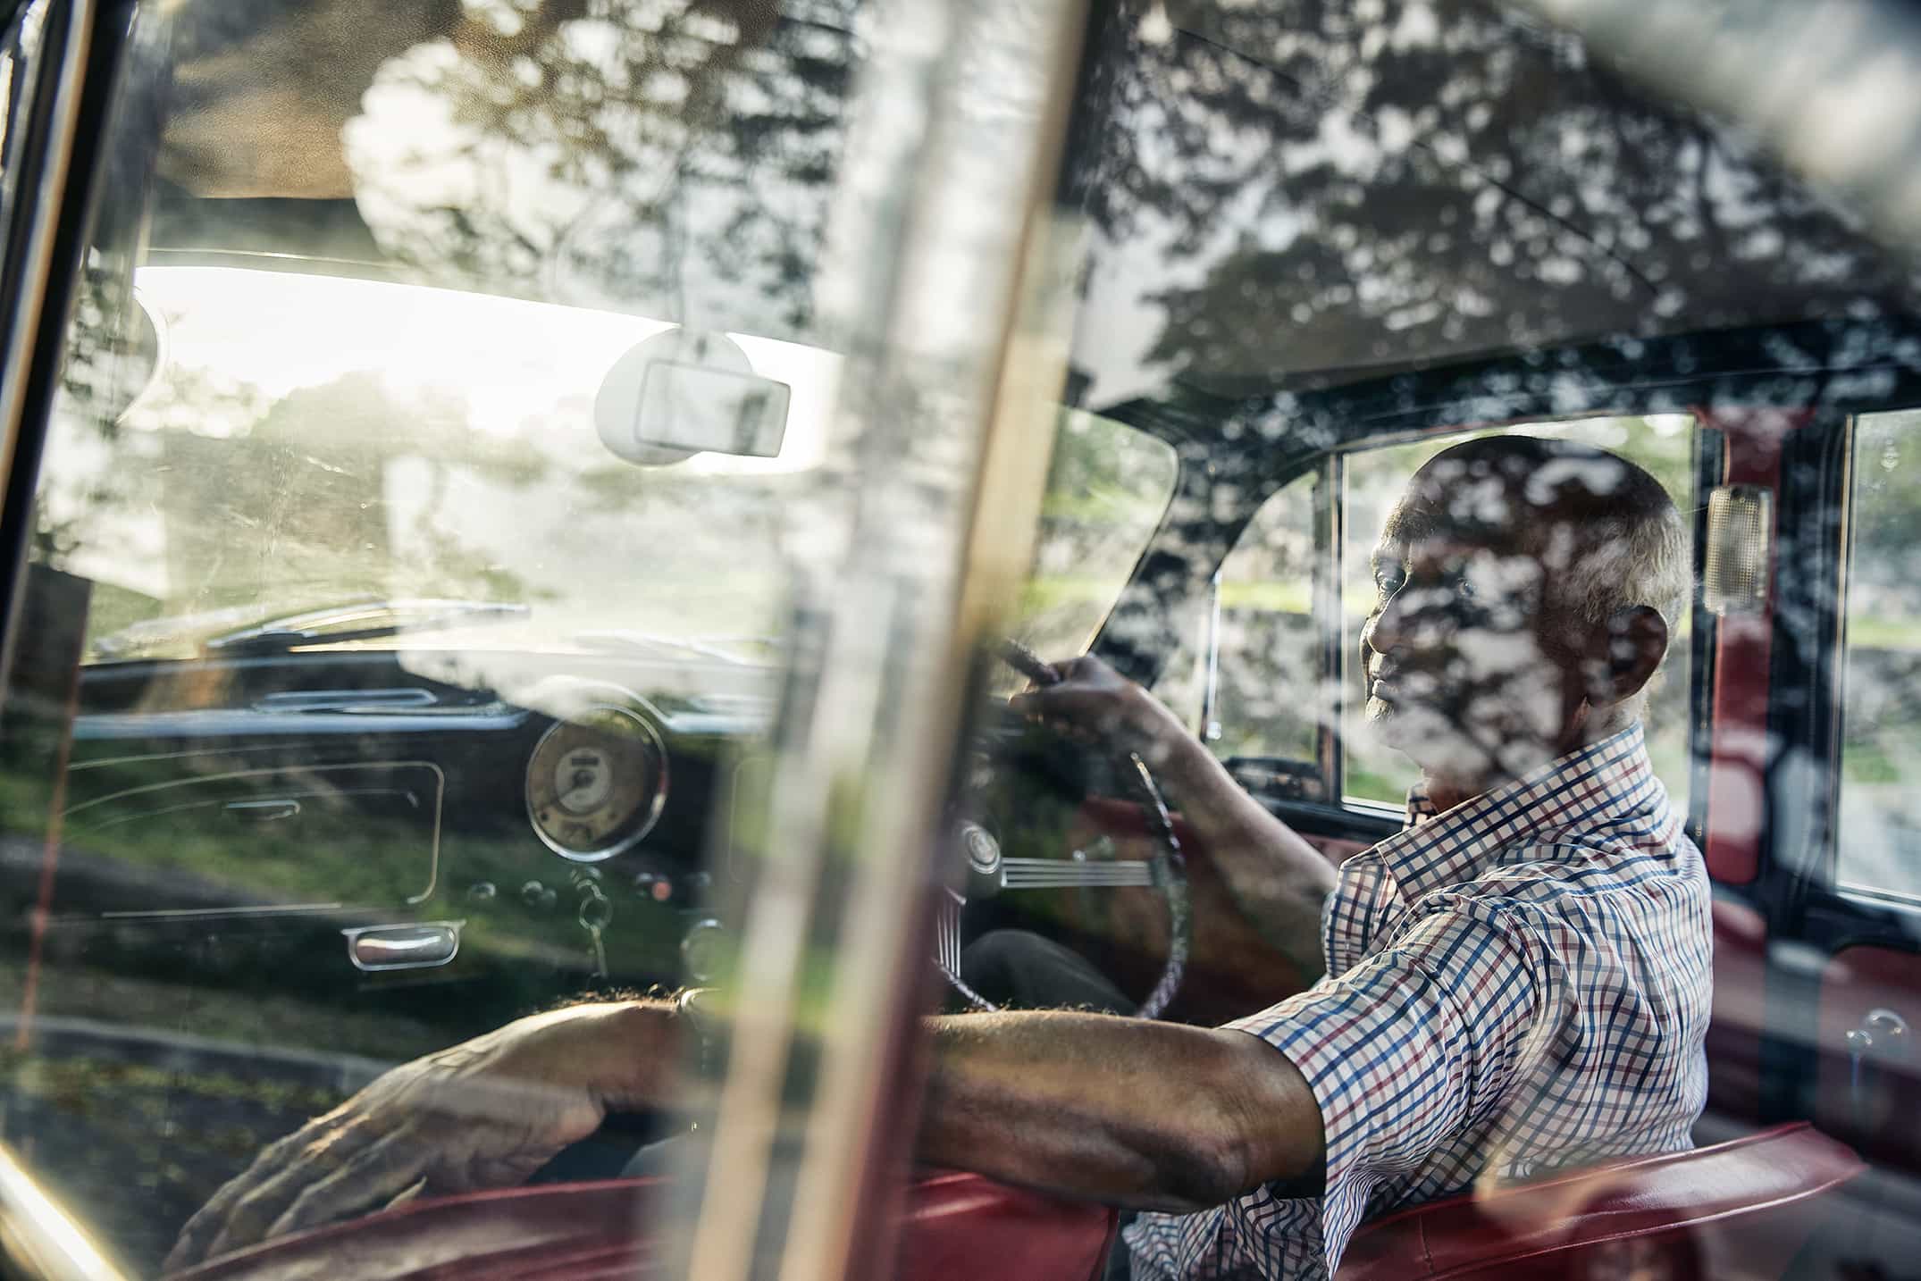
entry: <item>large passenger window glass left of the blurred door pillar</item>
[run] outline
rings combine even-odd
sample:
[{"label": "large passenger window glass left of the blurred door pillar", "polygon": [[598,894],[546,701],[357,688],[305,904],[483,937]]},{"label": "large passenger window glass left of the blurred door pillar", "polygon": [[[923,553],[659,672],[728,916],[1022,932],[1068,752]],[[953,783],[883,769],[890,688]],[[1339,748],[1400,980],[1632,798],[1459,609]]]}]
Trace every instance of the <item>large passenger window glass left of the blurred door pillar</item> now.
[{"label": "large passenger window glass left of the blurred door pillar", "polygon": [[0,724],[0,1141],[134,1275],[384,1066],[730,953],[859,42],[699,8],[148,15]]}]

